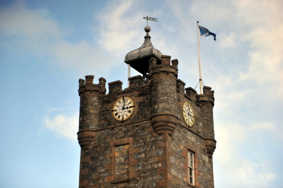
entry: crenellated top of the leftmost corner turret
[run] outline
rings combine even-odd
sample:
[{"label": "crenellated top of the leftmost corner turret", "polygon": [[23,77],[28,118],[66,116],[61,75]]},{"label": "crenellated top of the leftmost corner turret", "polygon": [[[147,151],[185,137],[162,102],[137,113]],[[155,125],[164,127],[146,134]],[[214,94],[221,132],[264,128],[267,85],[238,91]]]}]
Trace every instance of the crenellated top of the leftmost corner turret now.
[{"label": "crenellated top of the leftmost corner turret", "polygon": [[85,76],[85,78],[86,80],[82,78],[78,80],[78,83],[79,83],[78,95],[79,96],[82,94],[82,92],[86,92],[86,91],[97,93],[97,95],[99,93],[102,93],[102,94],[106,93],[106,88],[105,88],[106,79],[105,78],[103,77],[99,78],[98,84],[93,83],[94,75],[88,75],[88,76]]}]

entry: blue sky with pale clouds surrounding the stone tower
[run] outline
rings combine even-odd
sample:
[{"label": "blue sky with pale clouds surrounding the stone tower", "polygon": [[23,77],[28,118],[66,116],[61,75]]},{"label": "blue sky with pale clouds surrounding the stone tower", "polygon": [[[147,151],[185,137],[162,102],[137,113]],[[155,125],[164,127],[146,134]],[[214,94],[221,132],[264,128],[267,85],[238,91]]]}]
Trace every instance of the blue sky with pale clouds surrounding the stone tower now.
[{"label": "blue sky with pale clouds surrounding the stone tower", "polygon": [[[215,187],[283,187],[283,2],[0,1],[0,186],[78,187],[78,79],[127,87],[149,16],[185,87],[215,90]],[[131,76],[138,73],[133,71]],[[199,93],[198,87],[196,88]]]}]

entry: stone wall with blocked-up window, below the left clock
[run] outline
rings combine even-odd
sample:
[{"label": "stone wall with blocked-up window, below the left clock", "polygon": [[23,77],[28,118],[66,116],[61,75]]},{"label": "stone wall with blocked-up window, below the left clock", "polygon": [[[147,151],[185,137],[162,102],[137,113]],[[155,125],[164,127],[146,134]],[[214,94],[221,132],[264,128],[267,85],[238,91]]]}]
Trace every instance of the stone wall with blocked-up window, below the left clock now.
[{"label": "stone wall with blocked-up window, below the left clock", "polygon": [[80,187],[157,187],[162,182],[164,140],[149,121],[99,131],[96,137],[82,151]]}]

